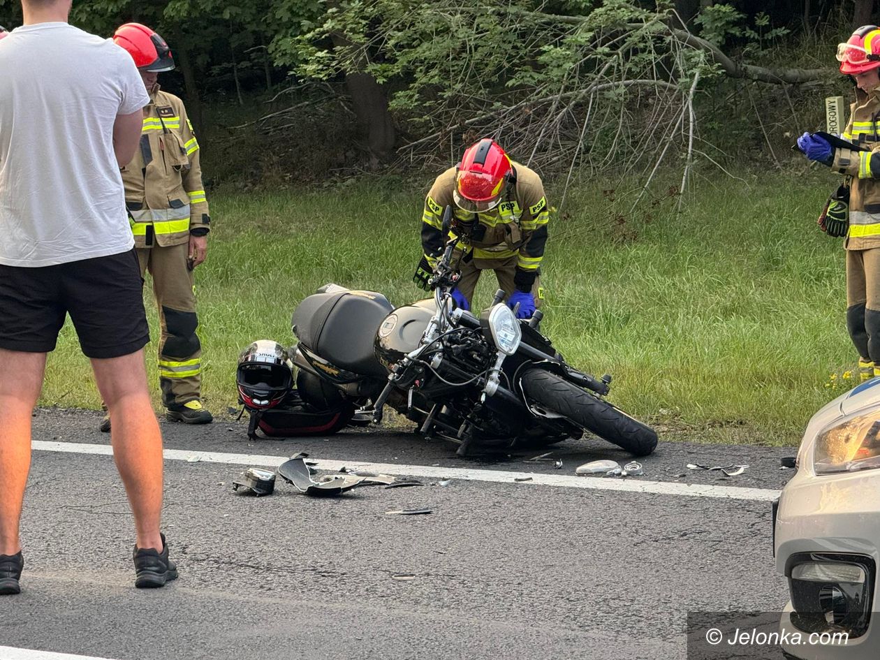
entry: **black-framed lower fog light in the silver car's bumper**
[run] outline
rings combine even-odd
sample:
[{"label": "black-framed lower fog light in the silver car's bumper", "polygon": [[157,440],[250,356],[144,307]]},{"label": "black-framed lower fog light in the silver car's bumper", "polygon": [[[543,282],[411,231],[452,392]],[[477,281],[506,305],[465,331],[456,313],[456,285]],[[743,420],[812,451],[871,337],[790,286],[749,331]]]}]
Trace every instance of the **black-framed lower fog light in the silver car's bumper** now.
[{"label": "black-framed lower fog light in the silver car's bumper", "polygon": [[875,564],[860,554],[793,554],[786,565],[791,622],[806,633],[868,632]]}]

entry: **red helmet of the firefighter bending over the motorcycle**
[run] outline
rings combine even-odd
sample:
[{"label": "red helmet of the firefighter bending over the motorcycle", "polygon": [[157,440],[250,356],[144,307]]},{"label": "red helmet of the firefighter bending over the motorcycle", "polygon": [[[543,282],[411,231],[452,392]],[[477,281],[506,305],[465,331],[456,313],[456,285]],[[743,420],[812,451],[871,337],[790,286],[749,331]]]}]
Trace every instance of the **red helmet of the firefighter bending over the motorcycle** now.
[{"label": "red helmet of the firefighter bending over the motorcycle", "polygon": [[452,199],[460,209],[477,213],[495,209],[502,200],[512,165],[501,146],[484,137],[465,150],[455,173]]}]

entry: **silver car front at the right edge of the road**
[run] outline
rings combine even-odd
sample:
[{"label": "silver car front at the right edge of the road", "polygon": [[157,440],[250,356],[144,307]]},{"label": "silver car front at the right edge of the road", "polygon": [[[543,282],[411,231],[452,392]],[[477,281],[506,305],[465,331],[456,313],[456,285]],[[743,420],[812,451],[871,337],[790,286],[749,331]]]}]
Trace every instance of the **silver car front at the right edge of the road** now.
[{"label": "silver car front at the right edge of the road", "polygon": [[776,568],[790,595],[781,646],[803,660],[876,660],[880,378],[813,415],[796,466],[774,508]]}]

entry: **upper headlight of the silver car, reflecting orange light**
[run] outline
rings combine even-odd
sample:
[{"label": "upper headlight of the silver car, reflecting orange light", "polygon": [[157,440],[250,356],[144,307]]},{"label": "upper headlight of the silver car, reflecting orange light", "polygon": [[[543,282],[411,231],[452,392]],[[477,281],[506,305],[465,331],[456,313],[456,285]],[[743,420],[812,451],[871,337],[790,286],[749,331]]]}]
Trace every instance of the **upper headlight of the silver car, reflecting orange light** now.
[{"label": "upper headlight of the silver car, reflecting orange light", "polygon": [[880,407],[861,410],[819,431],[813,445],[817,474],[880,467]]}]

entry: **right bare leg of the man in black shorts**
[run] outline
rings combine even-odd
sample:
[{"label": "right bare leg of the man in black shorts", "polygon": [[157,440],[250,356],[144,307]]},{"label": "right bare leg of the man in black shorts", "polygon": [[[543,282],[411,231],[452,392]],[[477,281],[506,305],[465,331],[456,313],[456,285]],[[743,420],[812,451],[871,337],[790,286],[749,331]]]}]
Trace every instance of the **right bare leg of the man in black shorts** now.
[{"label": "right bare leg of the man in black shorts", "polygon": [[135,515],[137,546],[162,550],[162,435],[150,402],[143,349],[128,356],[92,359],[110,411],[116,467]]}]

